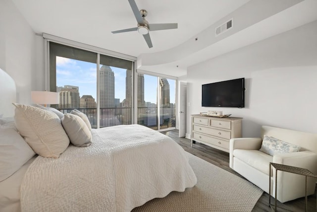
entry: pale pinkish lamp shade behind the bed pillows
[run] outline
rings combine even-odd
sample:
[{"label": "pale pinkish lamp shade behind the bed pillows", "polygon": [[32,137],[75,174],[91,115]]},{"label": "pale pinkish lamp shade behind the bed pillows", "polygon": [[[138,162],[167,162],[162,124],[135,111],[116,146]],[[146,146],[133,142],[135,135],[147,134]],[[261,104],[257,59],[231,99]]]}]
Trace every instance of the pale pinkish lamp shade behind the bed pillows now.
[{"label": "pale pinkish lamp shade behind the bed pillows", "polygon": [[31,98],[37,104],[58,104],[58,92],[50,91],[31,91]]}]

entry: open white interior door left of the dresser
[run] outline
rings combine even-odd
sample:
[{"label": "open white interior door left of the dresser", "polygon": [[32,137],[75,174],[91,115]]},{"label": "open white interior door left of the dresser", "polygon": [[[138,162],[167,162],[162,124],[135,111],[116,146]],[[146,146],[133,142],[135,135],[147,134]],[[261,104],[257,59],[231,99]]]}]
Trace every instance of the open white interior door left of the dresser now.
[{"label": "open white interior door left of the dresser", "polygon": [[186,102],[187,102],[187,83],[180,82],[179,88],[179,137],[186,136]]}]

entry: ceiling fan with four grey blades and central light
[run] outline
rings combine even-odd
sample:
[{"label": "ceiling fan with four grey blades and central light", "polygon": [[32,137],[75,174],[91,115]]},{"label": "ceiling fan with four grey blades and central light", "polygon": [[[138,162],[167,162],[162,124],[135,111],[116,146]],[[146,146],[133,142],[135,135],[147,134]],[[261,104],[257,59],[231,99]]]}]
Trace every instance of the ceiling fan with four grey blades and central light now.
[{"label": "ceiling fan with four grey blades and central light", "polygon": [[138,27],[129,28],[129,29],[121,29],[117,31],[112,31],[113,34],[121,33],[121,32],[131,32],[131,31],[138,31],[140,34],[143,35],[145,41],[147,42],[149,48],[152,48],[152,41],[150,37],[150,31],[156,30],[164,30],[164,29],[177,29],[177,23],[152,23],[150,24],[145,17],[148,14],[148,11],[145,9],[138,9],[137,4],[134,0],[128,0],[132,11],[134,13],[135,18],[138,22]]}]

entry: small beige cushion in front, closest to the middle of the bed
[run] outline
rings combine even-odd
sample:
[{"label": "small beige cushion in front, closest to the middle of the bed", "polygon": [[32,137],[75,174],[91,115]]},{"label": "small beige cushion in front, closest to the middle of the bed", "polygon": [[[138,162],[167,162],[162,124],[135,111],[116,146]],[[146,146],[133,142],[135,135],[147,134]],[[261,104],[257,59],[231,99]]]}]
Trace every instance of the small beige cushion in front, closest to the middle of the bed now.
[{"label": "small beige cushion in front, closest to the middle of the bed", "polygon": [[74,114],[65,114],[61,119],[61,124],[67,136],[75,146],[89,146],[92,135],[82,118]]}]

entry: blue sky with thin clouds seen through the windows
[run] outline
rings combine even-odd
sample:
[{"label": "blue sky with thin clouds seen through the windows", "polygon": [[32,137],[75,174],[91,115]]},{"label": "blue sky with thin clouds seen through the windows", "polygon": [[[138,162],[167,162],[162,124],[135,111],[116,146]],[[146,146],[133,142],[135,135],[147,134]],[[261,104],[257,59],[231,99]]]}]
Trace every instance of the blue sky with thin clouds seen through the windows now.
[{"label": "blue sky with thin clouds seen through the windows", "polygon": [[[114,72],[115,98],[120,102],[125,99],[126,70],[111,67]],[[157,77],[144,75],[144,100],[156,103]],[[170,86],[170,102],[175,103],[175,80],[168,80]],[[73,85],[79,87],[79,95],[92,95],[97,97],[97,71],[96,64],[68,58],[56,57],[56,85]]]}]

